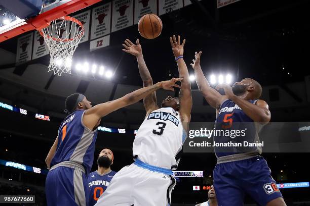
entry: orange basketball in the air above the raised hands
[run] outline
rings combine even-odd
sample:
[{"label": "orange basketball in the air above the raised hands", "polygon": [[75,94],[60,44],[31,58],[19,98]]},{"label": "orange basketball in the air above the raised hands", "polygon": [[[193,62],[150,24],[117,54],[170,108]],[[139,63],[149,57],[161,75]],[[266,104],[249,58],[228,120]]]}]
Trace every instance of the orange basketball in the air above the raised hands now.
[{"label": "orange basketball in the air above the raised hands", "polygon": [[147,39],[158,37],[162,33],[162,20],[154,14],[146,14],[139,20],[138,30],[141,36]]}]

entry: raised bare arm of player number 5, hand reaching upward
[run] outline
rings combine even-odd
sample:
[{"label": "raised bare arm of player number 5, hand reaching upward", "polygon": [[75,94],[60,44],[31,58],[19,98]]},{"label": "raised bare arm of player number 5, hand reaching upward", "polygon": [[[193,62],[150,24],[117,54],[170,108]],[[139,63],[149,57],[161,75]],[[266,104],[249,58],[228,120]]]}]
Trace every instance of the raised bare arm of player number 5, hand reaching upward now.
[{"label": "raised bare arm of player number 5, hand reaching upward", "polygon": [[199,88],[199,91],[203,94],[205,99],[208,101],[209,105],[215,109],[219,109],[221,102],[227,98],[224,95],[218,93],[215,89],[213,89],[208,80],[206,79],[201,66],[200,66],[200,56],[202,52],[195,52],[195,60],[192,60],[192,68],[195,70],[195,78]]}]

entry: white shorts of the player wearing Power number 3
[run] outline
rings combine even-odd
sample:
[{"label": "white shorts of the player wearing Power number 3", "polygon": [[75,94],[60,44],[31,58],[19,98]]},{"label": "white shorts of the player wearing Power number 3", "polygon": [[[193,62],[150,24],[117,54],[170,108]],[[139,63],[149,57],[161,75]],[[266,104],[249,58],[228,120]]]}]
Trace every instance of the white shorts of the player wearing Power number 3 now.
[{"label": "white shorts of the player wearing Power number 3", "polygon": [[175,184],[172,175],[131,164],[114,175],[95,205],[169,206]]}]

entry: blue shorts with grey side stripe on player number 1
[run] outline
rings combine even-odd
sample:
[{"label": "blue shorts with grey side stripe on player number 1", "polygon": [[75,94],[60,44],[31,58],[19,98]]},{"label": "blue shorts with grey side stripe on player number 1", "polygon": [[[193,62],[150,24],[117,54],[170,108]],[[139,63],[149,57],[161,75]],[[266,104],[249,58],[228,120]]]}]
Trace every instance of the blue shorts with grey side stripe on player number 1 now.
[{"label": "blue shorts with grey side stripe on player number 1", "polygon": [[86,175],[80,170],[57,167],[46,178],[45,191],[47,205],[86,206],[89,187]]}]

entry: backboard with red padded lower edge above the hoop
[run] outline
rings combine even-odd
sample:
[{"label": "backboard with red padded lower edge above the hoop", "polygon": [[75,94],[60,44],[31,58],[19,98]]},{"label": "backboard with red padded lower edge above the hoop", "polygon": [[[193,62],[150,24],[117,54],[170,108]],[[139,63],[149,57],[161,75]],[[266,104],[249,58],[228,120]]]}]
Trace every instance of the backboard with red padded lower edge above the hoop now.
[{"label": "backboard with red padded lower edge above the hoop", "polygon": [[0,42],[22,33],[39,30],[60,17],[101,0],[19,0],[0,5]]}]

